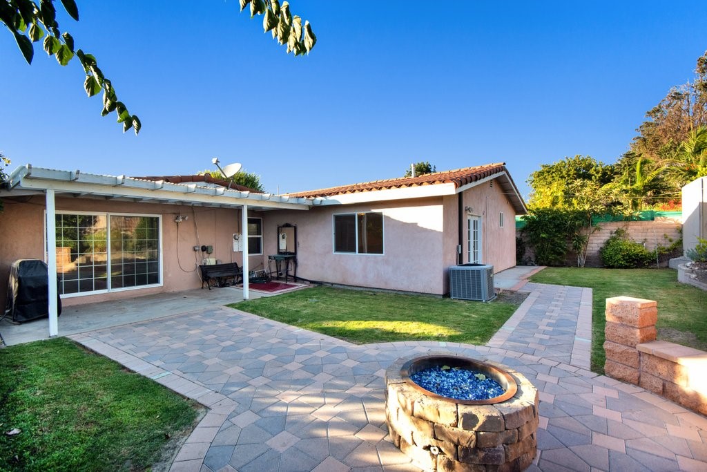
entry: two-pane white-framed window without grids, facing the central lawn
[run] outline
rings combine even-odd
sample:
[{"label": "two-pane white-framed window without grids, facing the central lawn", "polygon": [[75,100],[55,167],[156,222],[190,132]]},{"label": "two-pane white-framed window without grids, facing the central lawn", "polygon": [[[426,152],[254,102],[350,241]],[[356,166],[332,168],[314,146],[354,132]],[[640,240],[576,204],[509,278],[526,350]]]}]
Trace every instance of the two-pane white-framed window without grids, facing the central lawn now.
[{"label": "two-pane white-framed window without grids, facing the central lawn", "polygon": [[382,254],[383,214],[334,214],[334,253]]}]

